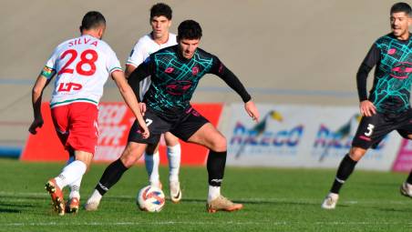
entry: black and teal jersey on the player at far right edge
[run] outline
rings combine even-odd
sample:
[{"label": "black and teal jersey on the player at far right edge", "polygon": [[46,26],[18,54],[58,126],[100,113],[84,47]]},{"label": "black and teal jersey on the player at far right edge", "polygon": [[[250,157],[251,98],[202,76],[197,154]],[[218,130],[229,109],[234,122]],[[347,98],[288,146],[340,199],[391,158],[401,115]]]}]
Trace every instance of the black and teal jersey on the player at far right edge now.
[{"label": "black and teal jersey on the player at far right edge", "polygon": [[[361,101],[369,99],[380,113],[399,113],[410,108],[412,83],[411,36],[399,40],[393,34],[380,37],[372,45],[357,73]],[[366,77],[375,67],[374,84],[366,96]]]}]

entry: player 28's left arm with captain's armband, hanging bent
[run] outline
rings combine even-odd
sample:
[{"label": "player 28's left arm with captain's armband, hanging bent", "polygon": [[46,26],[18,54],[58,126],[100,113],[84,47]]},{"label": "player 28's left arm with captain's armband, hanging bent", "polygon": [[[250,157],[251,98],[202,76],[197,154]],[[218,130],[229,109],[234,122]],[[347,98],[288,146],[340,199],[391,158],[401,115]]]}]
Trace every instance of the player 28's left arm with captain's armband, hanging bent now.
[{"label": "player 28's left arm with captain's armband, hanging bent", "polygon": [[30,127],[28,128],[28,131],[36,135],[37,131],[36,129],[38,127],[43,126],[43,116],[41,113],[41,104],[42,104],[42,96],[43,96],[43,91],[45,90],[46,86],[50,83],[50,80],[55,76],[56,72],[52,68],[49,68],[45,66],[40,73],[39,76],[37,76],[35,86],[33,86],[32,89],[32,105],[33,105],[33,113],[34,113],[34,119]]}]

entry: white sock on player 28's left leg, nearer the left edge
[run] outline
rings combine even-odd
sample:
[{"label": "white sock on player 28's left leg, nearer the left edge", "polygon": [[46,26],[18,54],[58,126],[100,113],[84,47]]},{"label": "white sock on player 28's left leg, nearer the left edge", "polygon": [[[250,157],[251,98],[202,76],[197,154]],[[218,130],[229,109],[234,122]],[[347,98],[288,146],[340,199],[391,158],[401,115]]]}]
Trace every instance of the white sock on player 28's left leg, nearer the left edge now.
[{"label": "white sock on player 28's left leg, nearer the left edge", "polygon": [[76,160],[71,162],[69,165],[63,168],[63,171],[56,177],[56,184],[60,189],[66,187],[69,184],[74,183],[78,179],[81,181],[81,177],[86,173],[86,166],[85,163],[82,161]]}]

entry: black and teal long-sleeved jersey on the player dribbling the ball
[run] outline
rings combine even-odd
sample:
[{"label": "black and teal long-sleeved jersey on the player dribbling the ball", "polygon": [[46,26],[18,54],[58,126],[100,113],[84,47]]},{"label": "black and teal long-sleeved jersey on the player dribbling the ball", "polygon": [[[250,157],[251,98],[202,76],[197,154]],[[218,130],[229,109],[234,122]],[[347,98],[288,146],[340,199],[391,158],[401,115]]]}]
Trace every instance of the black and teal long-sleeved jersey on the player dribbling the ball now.
[{"label": "black and teal long-sleeved jersey on the player dribbling the ball", "polygon": [[190,106],[191,96],[206,74],[220,76],[244,102],[251,99],[239,79],[217,56],[197,48],[193,57],[186,59],[180,55],[179,45],[149,55],[129,76],[129,84],[139,96],[139,81],[150,76],[151,84],[143,102],[160,115],[172,118]]}]

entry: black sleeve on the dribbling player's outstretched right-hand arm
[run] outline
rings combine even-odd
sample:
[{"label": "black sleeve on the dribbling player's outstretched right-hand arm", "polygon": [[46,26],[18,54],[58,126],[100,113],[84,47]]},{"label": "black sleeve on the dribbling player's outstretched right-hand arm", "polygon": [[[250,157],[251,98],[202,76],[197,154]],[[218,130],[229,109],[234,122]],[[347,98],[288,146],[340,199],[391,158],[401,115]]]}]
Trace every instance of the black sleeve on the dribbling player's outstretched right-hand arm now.
[{"label": "black sleeve on the dribbling player's outstretched right-hand arm", "polygon": [[217,56],[212,56],[212,65],[210,73],[216,76],[221,77],[221,79],[230,86],[236,93],[242,97],[244,103],[251,100],[251,96],[246,91],[242,82],[239,80],[237,76],[235,76],[229,68],[221,63],[221,60]]}]

